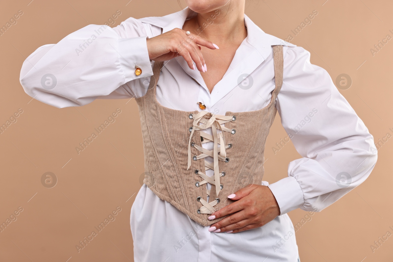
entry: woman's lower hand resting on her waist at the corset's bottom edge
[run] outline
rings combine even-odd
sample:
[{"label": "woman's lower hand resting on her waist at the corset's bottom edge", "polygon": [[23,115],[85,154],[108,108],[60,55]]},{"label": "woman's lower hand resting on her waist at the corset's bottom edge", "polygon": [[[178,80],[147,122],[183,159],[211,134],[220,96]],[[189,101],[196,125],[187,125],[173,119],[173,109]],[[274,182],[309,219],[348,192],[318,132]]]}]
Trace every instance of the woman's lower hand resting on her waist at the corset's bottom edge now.
[{"label": "woman's lower hand resting on her waist at the corset's bottom edge", "polygon": [[237,200],[236,202],[214,212],[208,219],[213,220],[231,215],[211,225],[209,231],[237,233],[261,227],[280,214],[278,203],[267,186],[250,184],[235,192],[234,195],[231,194],[228,197]]}]

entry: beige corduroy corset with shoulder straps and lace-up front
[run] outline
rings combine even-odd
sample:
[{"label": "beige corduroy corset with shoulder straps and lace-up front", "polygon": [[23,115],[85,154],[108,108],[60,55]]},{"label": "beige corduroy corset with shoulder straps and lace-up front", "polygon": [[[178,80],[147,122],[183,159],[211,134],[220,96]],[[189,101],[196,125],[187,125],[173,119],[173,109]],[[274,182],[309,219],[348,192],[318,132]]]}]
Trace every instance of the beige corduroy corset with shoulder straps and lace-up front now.
[{"label": "beige corduroy corset with shoulder straps and lace-up front", "polygon": [[[155,81],[150,81],[145,95],[136,98],[148,174],[143,182],[203,226],[224,218],[208,220],[208,214],[234,202],[228,195],[250,183],[262,183],[265,141],[283,81],[283,46],[273,46],[273,57],[275,89],[268,106],[260,110],[216,115],[162,106],[156,99],[156,85],[163,62],[154,62],[151,79]],[[213,136],[203,131],[209,127]],[[214,142],[211,151],[202,147],[209,141]],[[206,156],[213,157],[213,163],[204,161]],[[214,176],[206,176],[207,169],[213,169]]]}]

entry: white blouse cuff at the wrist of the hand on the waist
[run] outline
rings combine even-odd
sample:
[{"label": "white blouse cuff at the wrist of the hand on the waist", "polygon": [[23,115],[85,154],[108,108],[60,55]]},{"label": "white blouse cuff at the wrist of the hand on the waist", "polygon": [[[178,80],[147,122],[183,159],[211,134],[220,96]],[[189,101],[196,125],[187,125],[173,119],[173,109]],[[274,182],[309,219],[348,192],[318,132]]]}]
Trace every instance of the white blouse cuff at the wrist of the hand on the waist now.
[{"label": "white blouse cuff at the wrist of the hand on the waist", "polygon": [[293,176],[268,185],[280,207],[280,216],[304,204],[303,191]]}]

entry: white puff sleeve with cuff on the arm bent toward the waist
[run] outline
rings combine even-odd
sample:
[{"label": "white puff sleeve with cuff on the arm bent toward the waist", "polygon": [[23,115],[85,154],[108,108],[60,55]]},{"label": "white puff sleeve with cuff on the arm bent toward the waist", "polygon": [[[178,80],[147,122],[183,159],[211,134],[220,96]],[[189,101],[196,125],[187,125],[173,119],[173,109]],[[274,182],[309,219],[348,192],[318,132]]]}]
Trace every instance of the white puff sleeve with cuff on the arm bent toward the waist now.
[{"label": "white puff sleeve with cuff on the arm bent toward the waist", "polygon": [[268,185],[281,215],[321,211],[369,176],[377,160],[373,136],[304,48],[286,47],[276,107],[302,156],[289,163],[288,177]]}]

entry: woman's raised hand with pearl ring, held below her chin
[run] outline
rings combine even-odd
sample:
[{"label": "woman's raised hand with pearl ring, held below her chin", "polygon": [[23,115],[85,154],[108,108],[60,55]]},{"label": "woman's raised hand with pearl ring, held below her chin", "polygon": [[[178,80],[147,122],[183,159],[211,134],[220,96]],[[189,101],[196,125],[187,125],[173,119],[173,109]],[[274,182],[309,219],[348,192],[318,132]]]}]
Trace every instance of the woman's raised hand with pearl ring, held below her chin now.
[{"label": "woman's raised hand with pearl ring, held below her chin", "polygon": [[[181,55],[189,68],[195,70],[193,61],[199,71],[206,71],[206,64],[200,46],[217,49],[212,42],[191,33],[186,35],[180,28],[146,39],[149,58],[154,61],[166,61]],[[200,45],[200,46],[198,46]]]}]

